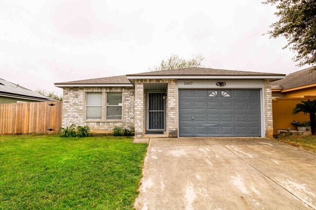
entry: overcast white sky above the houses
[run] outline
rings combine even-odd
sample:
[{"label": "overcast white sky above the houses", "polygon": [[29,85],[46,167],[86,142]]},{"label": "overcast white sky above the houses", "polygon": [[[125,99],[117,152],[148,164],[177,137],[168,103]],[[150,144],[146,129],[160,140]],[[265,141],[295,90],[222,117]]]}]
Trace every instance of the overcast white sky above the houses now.
[{"label": "overcast white sky above the houses", "polygon": [[162,58],[205,56],[211,68],[289,74],[284,38],[261,0],[1,0],[0,78],[62,93],[54,82],[147,71]]}]

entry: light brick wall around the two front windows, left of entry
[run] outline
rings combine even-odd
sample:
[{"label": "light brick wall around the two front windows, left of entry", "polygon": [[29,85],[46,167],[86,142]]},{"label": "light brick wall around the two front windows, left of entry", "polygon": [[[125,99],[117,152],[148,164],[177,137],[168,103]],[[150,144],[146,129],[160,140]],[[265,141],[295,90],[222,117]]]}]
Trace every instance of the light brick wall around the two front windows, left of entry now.
[{"label": "light brick wall around the two front windows, left of entry", "polygon": [[[86,120],[86,93],[102,92],[102,119]],[[106,93],[122,92],[122,120],[105,120]],[[134,87],[64,87],[63,127],[88,125],[93,131],[111,130],[115,126],[134,129]]]}]

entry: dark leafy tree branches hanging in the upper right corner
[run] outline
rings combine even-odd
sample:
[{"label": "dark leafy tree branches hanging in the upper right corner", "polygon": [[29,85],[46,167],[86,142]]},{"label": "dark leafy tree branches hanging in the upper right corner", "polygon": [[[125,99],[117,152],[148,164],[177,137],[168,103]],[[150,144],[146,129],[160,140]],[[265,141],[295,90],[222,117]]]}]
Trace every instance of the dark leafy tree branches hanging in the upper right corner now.
[{"label": "dark leafy tree branches hanging in the upper right corner", "polygon": [[[270,38],[284,36],[287,45],[296,52],[293,60],[298,66],[316,65],[316,0],[265,0],[263,4],[276,5],[275,15],[280,19],[272,23]],[[316,70],[316,66],[311,72]]]}]

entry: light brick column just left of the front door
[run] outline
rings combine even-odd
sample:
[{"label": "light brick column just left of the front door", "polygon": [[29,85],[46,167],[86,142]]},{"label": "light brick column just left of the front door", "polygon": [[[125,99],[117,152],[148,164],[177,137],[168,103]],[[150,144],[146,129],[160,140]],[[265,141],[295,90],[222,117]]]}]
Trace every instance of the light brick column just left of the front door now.
[{"label": "light brick column just left of the front door", "polygon": [[144,133],[144,84],[143,81],[135,81],[135,138],[142,138]]}]

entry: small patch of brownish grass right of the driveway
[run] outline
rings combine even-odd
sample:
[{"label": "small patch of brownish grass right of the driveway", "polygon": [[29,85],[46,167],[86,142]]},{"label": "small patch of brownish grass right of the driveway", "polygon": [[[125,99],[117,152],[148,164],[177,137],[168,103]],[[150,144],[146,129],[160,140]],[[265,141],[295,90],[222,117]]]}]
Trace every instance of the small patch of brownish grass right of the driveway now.
[{"label": "small patch of brownish grass right of the driveway", "polygon": [[279,136],[275,140],[316,153],[316,136]]}]

